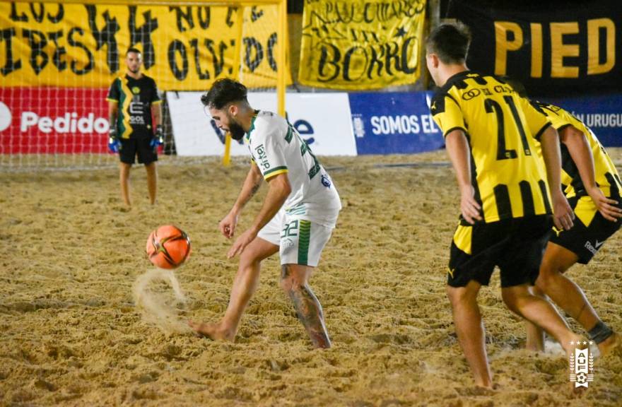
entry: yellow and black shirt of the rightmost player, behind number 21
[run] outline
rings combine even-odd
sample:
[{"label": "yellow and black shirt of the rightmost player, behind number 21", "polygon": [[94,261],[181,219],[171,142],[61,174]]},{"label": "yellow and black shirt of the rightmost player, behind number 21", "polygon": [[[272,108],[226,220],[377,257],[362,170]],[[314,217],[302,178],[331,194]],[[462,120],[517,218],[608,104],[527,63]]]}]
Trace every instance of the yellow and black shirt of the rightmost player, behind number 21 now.
[{"label": "yellow and black shirt of the rightmost player, behind number 21", "polygon": [[[544,114],[558,131],[562,131],[566,126],[573,126],[585,134],[592,157],[594,157],[594,180],[605,196],[619,196],[622,191],[622,182],[618,170],[592,130],[561,107],[537,101],[532,101],[532,105]],[[561,183],[564,194],[568,198],[587,196],[577,165],[564,144],[561,144],[561,160]]]}]

